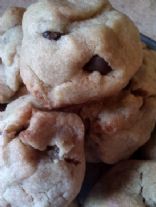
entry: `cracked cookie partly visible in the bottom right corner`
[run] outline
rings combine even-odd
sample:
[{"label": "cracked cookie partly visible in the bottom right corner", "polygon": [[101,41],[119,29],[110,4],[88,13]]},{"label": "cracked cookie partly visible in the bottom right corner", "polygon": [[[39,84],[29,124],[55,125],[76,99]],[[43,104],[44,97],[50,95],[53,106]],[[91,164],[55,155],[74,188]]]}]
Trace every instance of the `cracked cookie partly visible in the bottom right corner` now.
[{"label": "cracked cookie partly visible in the bottom right corner", "polygon": [[156,162],[117,164],[94,187],[84,207],[155,207]]}]

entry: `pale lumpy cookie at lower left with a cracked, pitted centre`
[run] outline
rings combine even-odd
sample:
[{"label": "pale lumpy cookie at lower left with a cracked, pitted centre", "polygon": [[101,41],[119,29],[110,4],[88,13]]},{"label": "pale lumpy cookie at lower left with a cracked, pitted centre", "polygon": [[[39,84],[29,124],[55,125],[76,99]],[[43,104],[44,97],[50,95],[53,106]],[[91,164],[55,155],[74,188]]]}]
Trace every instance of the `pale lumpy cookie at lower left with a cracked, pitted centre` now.
[{"label": "pale lumpy cookie at lower left with a cracked, pitted centre", "polygon": [[0,206],[67,207],[84,177],[84,126],[34,105],[24,96],[0,114]]}]

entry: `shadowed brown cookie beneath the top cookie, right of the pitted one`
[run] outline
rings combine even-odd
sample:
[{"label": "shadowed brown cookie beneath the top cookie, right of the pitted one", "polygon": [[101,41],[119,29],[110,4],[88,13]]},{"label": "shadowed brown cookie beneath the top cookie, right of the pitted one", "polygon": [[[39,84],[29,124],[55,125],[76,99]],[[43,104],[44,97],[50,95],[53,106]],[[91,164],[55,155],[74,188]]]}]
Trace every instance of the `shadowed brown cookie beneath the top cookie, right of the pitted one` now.
[{"label": "shadowed brown cookie beneath the top cookie, right of the pitted one", "polygon": [[129,91],[85,105],[80,116],[86,125],[86,152],[90,162],[108,164],[127,159],[151,135],[156,122],[156,99]]}]

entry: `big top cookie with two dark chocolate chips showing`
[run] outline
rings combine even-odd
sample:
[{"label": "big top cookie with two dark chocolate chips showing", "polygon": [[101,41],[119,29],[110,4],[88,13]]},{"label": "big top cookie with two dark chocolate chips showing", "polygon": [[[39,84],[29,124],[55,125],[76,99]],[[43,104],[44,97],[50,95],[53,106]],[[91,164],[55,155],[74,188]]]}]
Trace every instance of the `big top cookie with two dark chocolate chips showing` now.
[{"label": "big top cookie with two dark chocolate chips showing", "polygon": [[45,106],[115,95],[142,63],[134,24],[106,0],[44,0],[23,18],[21,76]]}]

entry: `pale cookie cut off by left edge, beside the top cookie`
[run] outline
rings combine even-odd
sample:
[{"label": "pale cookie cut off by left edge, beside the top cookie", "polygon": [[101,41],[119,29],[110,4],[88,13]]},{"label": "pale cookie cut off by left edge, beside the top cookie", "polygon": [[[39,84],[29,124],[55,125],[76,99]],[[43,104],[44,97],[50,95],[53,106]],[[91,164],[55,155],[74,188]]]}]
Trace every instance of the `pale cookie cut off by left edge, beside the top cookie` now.
[{"label": "pale cookie cut off by left edge, beside the top cookie", "polygon": [[0,103],[19,89],[23,8],[12,7],[0,18]]}]

